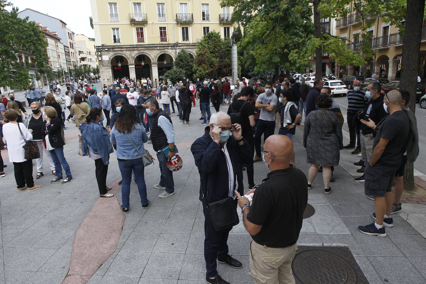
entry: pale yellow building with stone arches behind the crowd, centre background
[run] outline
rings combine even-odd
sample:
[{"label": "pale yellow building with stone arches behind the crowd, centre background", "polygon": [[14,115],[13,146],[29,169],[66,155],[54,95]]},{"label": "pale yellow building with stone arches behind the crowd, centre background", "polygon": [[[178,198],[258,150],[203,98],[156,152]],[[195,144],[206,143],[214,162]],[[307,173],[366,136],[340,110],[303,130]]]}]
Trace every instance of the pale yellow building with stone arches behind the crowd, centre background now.
[{"label": "pale yellow building with stone arches behind the crowd, centre background", "polygon": [[150,77],[155,82],[173,67],[181,49],[195,56],[210,31],[231,37],[232,7],[219,0],[90,0],[101,80]]}]

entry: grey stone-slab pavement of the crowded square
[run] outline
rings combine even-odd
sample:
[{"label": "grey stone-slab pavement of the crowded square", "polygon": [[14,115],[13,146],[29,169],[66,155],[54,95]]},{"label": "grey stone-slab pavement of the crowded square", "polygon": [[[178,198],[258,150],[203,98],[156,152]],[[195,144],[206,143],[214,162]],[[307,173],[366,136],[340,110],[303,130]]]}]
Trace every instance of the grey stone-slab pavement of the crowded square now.
[{"label": "grey stone-slab pavement of the crowded square", "polygon": [[[226,106],[222,106],[222,110],[226,111]],[[190,152],[191,143],[204,132],[199,117],[198,106],[192,108],[193,126],[182,126],[177,116],[172,115],[176,143],[184,161],[183,169],[174,173],[176,194],[158,198],[161,190],[153,188],[153,184],[158,183],[158,164],[147,166],[145,180],[150,207],[141,209],[136,185],[132,183],[130,212],[121,213],[120,218],[112,217],[117,208],[111,204],[105,204],[109,214],[101,212],[102,207],[93,206],[97,200],[121,204],[117,186],[120,172],[115,154],[110,156],[107,183],[118,190],[118,200],[99,200],[94,162],[77,155],[78,130],[71,123],[66,123],[69,129],[65,132],[64,146],[74,178],[69,184],[49,184],[53,176],[47,170],[44,177],[36,180],[42,188],[34,192],[16,192],[13,166],[5,158],[7,151],[3,150],[1,153],[8,167],[6,177],[0,179],[2,283],[61,283],[68,275],[72,256],[81,253],[78,251],[81,240],[99,236],[98,230],[107,229],[105,225],[99,228],[95,221],[92,221],[93,226],[85,224],[99,216],[103,224],[110,223],[111,227],[124,217],[124,225],[118,234],[96,237],[93,241],[97,245],[87,249],[92,263],[85,265],[99,267],[91,278],[86,275],[89,276],[87,283],[205,283],[204,216],[198,199],[199,174]],[[296,166],[307,174],[308,164],[301,141],[302,126],[299,126],[294,137]],[[153,153],[151,144],[145,146]],[[403,204],[403,212],[393,215],[395,227],[386,228],[386,238],[359,232],[358,225],[373,221],[374,202],[365,197],[363,185],[353,181],[350,175],[357,168],[353,162],[358,158],[350,151],[341,151],[341,163],[335,167],[336,181],[331,184],[329,195],[322,189],[321,174],[317,176],[308,196],[315,214],[303,221],[299,245],[348,247],[370,283],[426,283],[426,239],[419,233],[426,235],[425,205]],[[260,183],[268,169],[262,162],[255,163],[254,168],[255,182]],[[246,177],[244,182],[247,189]],[[81,229],[85,237],[76,237],[75,242],[76,230]],[[120,236],[118,240],[115,235]],[[230,254],[242,261],[244,267],[233,269],[219,264],[219,274],[227,281],[253,283],[248,274],[250,240],[242,222],[230,232]],[[111,254],[106,261],[100,256],[105,250]],[[78,271],[69,274],[78,274]]]}]

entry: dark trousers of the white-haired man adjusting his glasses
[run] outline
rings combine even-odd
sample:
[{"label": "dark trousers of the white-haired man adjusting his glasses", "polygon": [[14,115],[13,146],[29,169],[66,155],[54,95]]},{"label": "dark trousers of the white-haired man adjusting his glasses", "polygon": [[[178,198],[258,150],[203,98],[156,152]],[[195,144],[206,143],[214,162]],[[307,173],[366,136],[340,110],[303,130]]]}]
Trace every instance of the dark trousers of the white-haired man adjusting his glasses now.
[{"label": "dark trousers of the white-haired man adjusting his glasses", "polygon": [[[235,207],[238,199],[235,199]],[[216,259],[223,259],[228,254],[228,235],[232,228],[216,231],[209,212],[203,204],[204,212],[204,259],[206,261],[206,277],[215,277],[217,273]]]}]

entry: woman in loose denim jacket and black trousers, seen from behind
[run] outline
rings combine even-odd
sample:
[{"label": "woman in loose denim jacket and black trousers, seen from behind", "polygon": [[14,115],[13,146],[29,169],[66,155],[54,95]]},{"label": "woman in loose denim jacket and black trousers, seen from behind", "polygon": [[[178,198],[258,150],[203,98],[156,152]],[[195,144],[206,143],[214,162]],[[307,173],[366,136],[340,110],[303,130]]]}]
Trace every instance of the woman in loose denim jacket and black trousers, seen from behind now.
[{"label": "woman in loose denim jacket and black trousers, seen from behind", "polygon": [[112,187],[107,186],[107,174],[109,164],[109,154],[114,152],[111,142],[109,142],[109,132],[101,125],[104,120],[102,109],[94,107],[86,116],[86,123],[80,127],[81,131],[81,152],[83,156],[89,156],[95,160],[96,181],[98,181],[99,196],[112,197],[114,194],[107,190]]}]

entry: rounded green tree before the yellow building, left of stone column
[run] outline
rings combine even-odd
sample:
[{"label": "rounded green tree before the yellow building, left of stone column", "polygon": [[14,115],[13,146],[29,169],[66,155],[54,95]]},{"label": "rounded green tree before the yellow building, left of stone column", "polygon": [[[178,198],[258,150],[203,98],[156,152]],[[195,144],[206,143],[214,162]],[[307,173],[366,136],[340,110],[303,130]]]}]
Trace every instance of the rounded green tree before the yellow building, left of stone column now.
[{"label": "rounded green tree before the yellow building, left of stone column", "polygon": [[197,44],[196,77],[229,76],[232,71],[230,39],[208,32]]}]

